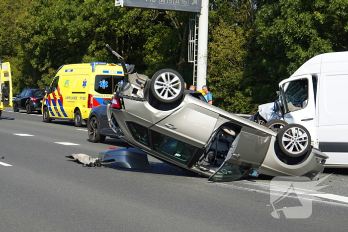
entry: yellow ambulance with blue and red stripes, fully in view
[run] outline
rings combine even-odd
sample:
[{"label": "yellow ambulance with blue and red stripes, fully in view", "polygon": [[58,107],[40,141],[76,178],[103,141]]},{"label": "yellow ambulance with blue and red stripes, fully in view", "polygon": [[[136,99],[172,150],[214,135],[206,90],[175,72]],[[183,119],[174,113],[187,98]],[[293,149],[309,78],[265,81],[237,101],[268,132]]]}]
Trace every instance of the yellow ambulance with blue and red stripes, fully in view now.
[{"label": "yellow ambulance with blue and red stripes, fully in view", "polygon": [[62,65],[42,101],[44,122],[70,120],[86,125],[90,110],[113,96],[115,85],[124,76],[120,64],[92,62]]}]

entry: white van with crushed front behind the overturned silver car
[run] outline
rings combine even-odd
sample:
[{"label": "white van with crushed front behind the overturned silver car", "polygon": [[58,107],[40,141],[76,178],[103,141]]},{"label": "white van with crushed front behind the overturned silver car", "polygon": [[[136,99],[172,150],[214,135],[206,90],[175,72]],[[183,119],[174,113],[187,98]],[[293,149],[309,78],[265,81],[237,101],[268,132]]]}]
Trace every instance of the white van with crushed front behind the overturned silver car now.
[{"label": "white van with crushed front behind the overturned silver car", "polygon": [[348,167],[348,52],[308,60],[279,83],[278,99],[260,105],[251,120],[274,129],[283,121],[303,125],[312,145],[329,156],[326,167]]}]

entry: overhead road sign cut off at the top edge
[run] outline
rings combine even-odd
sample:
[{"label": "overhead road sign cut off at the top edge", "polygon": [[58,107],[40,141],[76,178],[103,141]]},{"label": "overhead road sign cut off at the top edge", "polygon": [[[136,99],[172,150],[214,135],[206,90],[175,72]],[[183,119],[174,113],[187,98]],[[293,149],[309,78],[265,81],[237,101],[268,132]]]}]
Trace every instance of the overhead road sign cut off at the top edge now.
[{"label": "overhead road sign cut off at the top edge", "polygon": [[200,12],[202,0],[116,0],[116,6]]}]

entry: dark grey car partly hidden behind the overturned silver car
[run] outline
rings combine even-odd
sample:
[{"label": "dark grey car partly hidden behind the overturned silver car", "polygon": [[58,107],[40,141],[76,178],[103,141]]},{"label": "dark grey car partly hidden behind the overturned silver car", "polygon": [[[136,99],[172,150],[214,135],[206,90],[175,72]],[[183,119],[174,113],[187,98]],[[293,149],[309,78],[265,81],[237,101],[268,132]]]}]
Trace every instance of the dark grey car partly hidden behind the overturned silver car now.
[{"label": "dark grey car partly hidden behind the overturned silver car", "polygon": [[[202,93],[199,91],[185,89],[184,92],[203,102],[207,102]],[[114,139],[118,138],[118,135],[116,135],[116,133],[110,128],[107,120],[106,106],[109,101],[110,99],[104,100],[103,104],[94,107],[89,113],[87,130],[90,142],[102,143],[104,142],[106,136]],[[117,125],[115,118],[113,116],[111,116],[111,118],[113,120],[113,124]]]}]

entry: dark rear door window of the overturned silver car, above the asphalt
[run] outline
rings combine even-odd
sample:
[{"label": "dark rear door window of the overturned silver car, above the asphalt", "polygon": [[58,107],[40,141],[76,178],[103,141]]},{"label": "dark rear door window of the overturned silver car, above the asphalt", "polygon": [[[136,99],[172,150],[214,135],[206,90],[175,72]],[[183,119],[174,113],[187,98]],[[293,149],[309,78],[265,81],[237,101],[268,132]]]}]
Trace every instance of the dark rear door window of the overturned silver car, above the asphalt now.
[{"label": "dark rear door window of the overturned silver car, above the asphalt", "polygon": [[151,141],[154,151],[184,164],[196,152],[196,147],[155,131],[151,131]]}]

